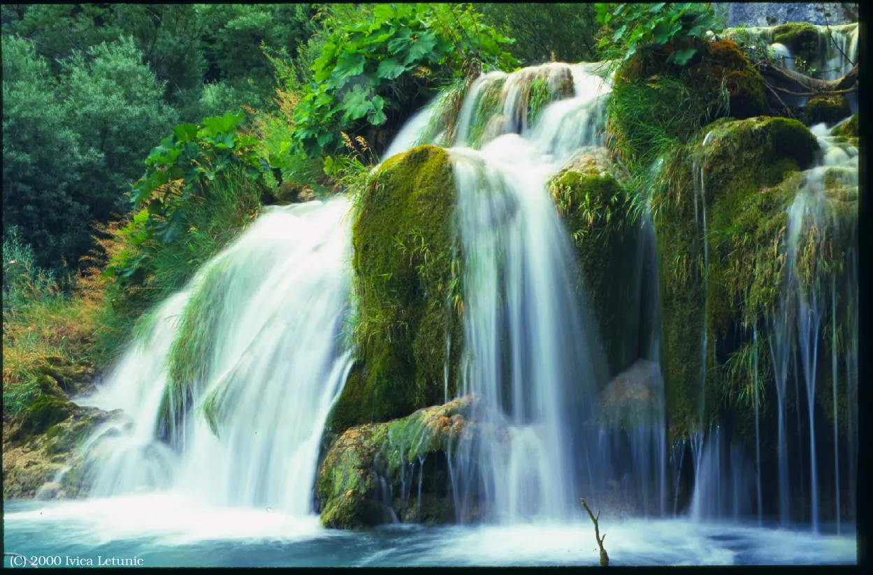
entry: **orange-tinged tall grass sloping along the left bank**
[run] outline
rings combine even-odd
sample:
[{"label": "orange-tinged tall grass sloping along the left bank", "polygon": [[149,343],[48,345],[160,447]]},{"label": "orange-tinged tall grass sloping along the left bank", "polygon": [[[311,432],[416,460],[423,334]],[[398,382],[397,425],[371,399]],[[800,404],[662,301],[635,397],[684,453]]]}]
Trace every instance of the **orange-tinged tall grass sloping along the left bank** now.
[{"label": "orange-tinged tall grass sloping along the left bank", "polygon": [[[115,222],[97,233],[98,247],[63,285],[33,264],[31,247],[9,230],[3,238],[3,417],[19,416],[36,399],[49,362],[107,369],[143,323],[141,316],[182,288],[259,209],[259,187],[231,170],[213,182],[209,199],[186,206],[183,238],[134,246],[121,232],[122,222]],[[103,273],[125,249],[148,250],[153,257],[155,271],[145,285],[122,288]]]}]

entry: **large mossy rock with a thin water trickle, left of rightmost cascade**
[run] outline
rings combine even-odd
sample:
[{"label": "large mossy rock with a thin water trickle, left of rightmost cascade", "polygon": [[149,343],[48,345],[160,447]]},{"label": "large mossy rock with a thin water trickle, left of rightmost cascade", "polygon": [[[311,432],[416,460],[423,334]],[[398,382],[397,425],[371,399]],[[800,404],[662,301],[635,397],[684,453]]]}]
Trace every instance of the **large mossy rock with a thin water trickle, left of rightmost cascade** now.
[{"label": "large mossy rock with a thin water trickle, left of rightmost cascade", "polygon": [[792,174],[811,166],[817,150],[797,120],[724,119],[664,162],[656,229],[671,437],[687,437],[701,416],[704,426],[717,416],[717,358],[723,362],[742,342],[743,327],[776,305],[786,210],[802,182]]}]

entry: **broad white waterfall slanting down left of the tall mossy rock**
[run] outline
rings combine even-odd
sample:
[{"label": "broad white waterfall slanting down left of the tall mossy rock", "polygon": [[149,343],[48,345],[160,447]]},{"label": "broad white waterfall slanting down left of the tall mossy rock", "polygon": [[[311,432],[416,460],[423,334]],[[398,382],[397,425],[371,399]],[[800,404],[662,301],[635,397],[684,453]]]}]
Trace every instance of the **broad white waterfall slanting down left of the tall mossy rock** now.
[{"label": "broad white waterfall slanting down left of the tall mossy rock", "polygon": [[[82,402],[129,418],[100,443],[93,497],[164,491],[195,506],[312,514],[320,437],[350,367],[338,342],[349,295],[347,213],[344,198],[273,208],[161,306],[150,334]],[[205,288],[210,300],[198,303]],[[158,422],[170,348],[189,337],[179,332],[189,305],[217,319],[190,407],[168,437],[173,450]],[[215,432],[203,413],[210,399]]]}]

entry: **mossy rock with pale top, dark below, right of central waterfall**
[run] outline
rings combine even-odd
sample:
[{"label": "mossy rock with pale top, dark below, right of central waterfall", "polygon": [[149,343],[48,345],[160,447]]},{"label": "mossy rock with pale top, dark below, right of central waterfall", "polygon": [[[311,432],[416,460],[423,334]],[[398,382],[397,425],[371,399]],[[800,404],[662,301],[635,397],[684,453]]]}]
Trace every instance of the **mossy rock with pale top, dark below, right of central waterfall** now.
[{"label": "mossy rock with pale top, dark below, right of central waterfall", "polygon": [[631,220],[627,197],[602,148],[581,152],[549,181],[561,219],[580,264],[580,292],[600,327],[610,375],[646,355],[651,308],[641,301],[643,267],[638,260],[640,222]]}]

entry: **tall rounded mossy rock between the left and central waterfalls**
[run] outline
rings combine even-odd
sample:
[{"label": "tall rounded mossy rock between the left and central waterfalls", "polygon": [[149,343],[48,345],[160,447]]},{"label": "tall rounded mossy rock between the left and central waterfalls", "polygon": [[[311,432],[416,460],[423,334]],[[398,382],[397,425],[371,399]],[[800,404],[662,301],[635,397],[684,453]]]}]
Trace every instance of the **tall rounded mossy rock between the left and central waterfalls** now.
[{"label": "tall rounded mossy rock between the left and central waterfalls", "polygon": [[[462,341],[455,180],[432,145],[386,160],[354,222],[358,369],[328,417],[341,432],[382,422],[454,395]],[[446,338],[450,356],[446,357]]]}]

